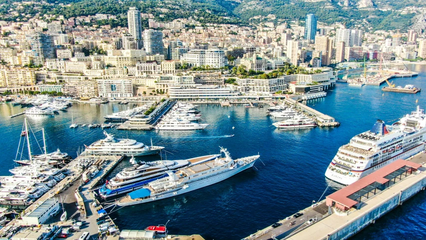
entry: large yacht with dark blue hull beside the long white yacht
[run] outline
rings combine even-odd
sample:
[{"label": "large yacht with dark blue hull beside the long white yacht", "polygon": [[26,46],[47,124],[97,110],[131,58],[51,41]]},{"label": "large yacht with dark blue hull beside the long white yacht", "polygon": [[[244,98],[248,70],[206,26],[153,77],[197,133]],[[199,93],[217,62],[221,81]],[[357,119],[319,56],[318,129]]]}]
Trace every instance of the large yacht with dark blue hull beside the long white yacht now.
[{"label": "large yacht with dark blue hull beside the long white yacht", "polygon": [[[159,160],[138,162],[118,172],[115,177],[107,181],[100,189],[99,195],[103,198],[133,191],[156,179],[167,176],[166,170],[176,171],[179,168],[196,165],[216,157],[219,154],[194,157],[187,160]],[[130,159],[134,160],[133,157]]]}]

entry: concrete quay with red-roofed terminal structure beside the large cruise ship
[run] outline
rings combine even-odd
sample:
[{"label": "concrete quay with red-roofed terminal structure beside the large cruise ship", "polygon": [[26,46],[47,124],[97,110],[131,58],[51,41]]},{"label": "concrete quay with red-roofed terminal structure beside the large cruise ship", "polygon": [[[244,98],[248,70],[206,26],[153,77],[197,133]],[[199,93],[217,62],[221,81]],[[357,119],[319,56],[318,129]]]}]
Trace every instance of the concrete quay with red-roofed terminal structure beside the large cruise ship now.
[{"label": "concrete quay with red-roofed terminal structure beside the large cruise ship", "polygon": [[[360,180],[326,196],[311,207],[301,211],[298,218],[287,217],[249,239],[292,240],[340,240],[348,239],[394,208],[402,205],[426,188],[426,153],[409,160],[396,160]],[[307,212],[321,207],[327,209],[323,217],[318,215],[302,219]],[[311,209],[312,208],[312,209]],[[291,218],[291,219],[289,219]],[[300,219],[300,220],[299,220]],[[289,222],[296,221],[289,229]]]}]

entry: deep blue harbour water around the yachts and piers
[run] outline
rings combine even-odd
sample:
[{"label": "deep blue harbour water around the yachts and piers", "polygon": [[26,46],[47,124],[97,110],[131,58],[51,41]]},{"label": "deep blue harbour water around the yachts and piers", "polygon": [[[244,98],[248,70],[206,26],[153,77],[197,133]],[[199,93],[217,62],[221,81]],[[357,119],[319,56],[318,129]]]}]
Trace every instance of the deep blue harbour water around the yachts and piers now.
[{"label": "deep blue harbour water around the yachts and piers", "polygon": [[[415,84],[426,90],[426,65],[411,65],[421,72],[414,78],[395,79],[397,85]],[[382,85],[381,87],[383,87]],[[144,229],[167,224],[169,233],[201,234],[206,239],[241,239],[258,229],[318,200],[328,183],[324,172],[339,146],[357,133],[368,130],[377,119],[392,123],[416,108],[416,100],[426,108],[426,93],[383,92],[381,87],[349,87],[337,83],[327,97],[306,104],[335,117],[341,126],[299,130],[279,130],[266,116],[266,108],[200,105],[203,131],[119,131],[107,129],[117,137],[129,137],[150,144],[164,145],[163,158],[185,159],[219,152],[227,147],[234,158],[260,154],[255,168],[214,185],[153,203],[128,206],[111,213],[121,229]],[[131,103],[129,103],[131,104]],[[78,147],[103,138],[102,131],[87,126],[70,129],[71,113],[78,123],[99,123],[102,116],[126,108],[118,104],[74,104],[54,117],[28,117],[41,144],[42,127],[48,149],[59,147],[76,156]],[[13,166],[24,116],[7,118],[22,111],[19,106],[0,105],[0,175]],[[229,117],[228,117],[229,116]],[[232,127],[235,126],[234,129]],[[235,134],[233,137],[221,137]],[[32,143],[33,151],[40,151]],[[25,153],[25,151],[24,151]],[[141,160],[159,156],[139,157]],[[114,173],[130,163],[122,161]],[[335,191],[329,188],[325,195]],[[117,209],[117,208],[116,208]],[[396,210],[354,236],[354,239],[426,238],[426,195],[418,194]]]}]

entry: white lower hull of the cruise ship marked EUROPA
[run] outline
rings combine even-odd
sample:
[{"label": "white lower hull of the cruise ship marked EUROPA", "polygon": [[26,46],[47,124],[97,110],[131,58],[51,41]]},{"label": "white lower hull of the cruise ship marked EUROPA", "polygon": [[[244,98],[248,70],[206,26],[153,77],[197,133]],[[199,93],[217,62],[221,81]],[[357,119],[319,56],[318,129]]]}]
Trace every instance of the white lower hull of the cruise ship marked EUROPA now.
[{"label": "white lower hull of the cruise ship marked EUROPA", "polygon": [[[353,176],[351,174],[341,174],[341,173],[332,171],[331,169],[327,168],[326,177],[329,178],[330,180],[338,182],[340,184],[349,185],[349,184],[352,184],[352,183],[356,182],[357,180],[361,179],[362,177],[382,168],[383,166],[388,165],[389,163],[391,163],[391,162],[393,162],[397,159],[407,159],[410,156],[415,155],[415,154],[417,154],[417,153],[419,153],[423,150],[425,150],[425,143],[423,143],[423,144],[421,144],[417,147],[414,147],[412,149],[409,149],[405,152],[401,152],[401,150],[396,151],[392,158],[389,158],[388,160],[386,160],[386,162],[387,162],[386,164],[378,164],[374,167],[368,168],[367,170],[363,171],[360,174],[360,176]],[[334,159],[332,160],[332,162],[334,162]]]}]

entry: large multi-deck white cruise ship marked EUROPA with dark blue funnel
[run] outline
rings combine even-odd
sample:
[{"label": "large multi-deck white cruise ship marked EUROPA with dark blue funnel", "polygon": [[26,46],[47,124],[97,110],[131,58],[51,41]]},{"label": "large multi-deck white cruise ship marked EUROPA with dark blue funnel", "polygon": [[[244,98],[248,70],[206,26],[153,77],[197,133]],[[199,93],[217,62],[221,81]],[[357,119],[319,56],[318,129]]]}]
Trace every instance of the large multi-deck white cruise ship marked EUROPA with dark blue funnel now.
[{"label": "large multi-deck white cruise ship marked EUROPA with dark blue funnel", "polygon": [[341,146],[326,171],[326,177],[349,185],[397,160],[425,150],[426,115],[423,109],[407,114],[392,125],[377,120],[373,128]]}]

